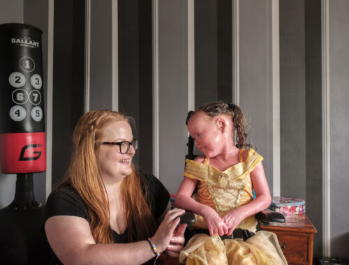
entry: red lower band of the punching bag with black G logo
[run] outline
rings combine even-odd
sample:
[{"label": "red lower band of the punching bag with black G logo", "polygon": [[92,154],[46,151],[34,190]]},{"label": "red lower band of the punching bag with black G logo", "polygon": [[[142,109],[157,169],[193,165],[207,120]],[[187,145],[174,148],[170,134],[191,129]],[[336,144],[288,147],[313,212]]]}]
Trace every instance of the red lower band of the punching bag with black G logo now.
[{"label": "red lower band of the punching bag with black G logo", "polygon": [[0,134],[0,156],[4,174],[45,171],[45,132]]}]

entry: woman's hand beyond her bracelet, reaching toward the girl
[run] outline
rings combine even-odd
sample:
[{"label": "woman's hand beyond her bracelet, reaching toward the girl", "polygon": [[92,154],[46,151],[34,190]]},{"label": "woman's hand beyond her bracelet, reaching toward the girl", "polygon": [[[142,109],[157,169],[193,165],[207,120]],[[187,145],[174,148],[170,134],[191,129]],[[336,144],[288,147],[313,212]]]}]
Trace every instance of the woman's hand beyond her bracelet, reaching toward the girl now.
[{"label": "woman's hand beyond her bracelet, reaching toward the girl", "polygon": [[170,241],[174,235],[174,229],[176,229],[177,225],[179,224],[179,216],[184,214],[184,212],[185,211],[182,209],[172,209],[166,213],[163,222],[161,222],[156,230],[156,233],[151,238],[151,242],[154,243],[158,252],[163,252],[166,250],[166,248],[168,248],[168,245],[170,244]]}]

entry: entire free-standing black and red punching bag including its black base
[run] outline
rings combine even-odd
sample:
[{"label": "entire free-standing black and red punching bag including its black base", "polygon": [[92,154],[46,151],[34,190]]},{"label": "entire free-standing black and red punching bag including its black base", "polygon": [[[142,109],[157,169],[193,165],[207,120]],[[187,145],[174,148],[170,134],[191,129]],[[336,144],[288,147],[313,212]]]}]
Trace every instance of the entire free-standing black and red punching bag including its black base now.
[{"label": "entire free-standing black and red punching bag including its black base", "polygon": [[46,170],[42,31],[0,25],[0,158],[17,174],[15,199],[0,210],[0,264],[48,264],[44,207],[34,198],[33,173]]}]

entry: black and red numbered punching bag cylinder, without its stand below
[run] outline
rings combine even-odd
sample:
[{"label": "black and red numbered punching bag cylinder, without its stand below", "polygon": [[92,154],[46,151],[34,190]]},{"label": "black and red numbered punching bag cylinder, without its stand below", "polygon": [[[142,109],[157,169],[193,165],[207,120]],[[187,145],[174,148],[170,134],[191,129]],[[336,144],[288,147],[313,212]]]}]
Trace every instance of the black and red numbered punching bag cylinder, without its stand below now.
[{"label": "black and red numbered punching bag cylinder, without its stand below", "polygon": [[0,156],[5,174],[46,170],[42,31],[0,25]]}]

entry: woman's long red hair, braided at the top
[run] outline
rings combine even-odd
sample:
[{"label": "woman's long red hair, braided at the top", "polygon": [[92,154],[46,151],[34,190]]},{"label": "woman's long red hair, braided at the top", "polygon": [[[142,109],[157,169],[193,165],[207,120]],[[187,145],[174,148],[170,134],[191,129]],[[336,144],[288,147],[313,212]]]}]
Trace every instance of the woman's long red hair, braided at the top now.
[{"label": "woman's long red hair, braided at the top", "polygon": [[[128,117],[110,110],[94,110],[84,114],[73,134],[73,157],[62,185],[71,185],[87,206],[91,233],[96,243],[113,243],[107,193],[96,155],[103,129],[112,121],[129,121]],[[147,239],[156,231],[156,221],[147,203],[146,189],[140,173],[133,171],[121,183],[126,210],[128,241]]]}]

